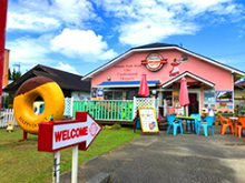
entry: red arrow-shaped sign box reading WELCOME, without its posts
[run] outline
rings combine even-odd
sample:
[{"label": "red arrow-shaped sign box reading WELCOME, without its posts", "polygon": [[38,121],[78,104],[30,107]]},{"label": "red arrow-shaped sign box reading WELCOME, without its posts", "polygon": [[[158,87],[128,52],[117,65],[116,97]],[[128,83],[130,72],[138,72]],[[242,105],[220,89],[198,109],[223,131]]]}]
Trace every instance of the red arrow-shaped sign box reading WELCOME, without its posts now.
[{"label": "red arrow-shaped sign box reading WELCOME, without its posts", "polygon": [[74,145],[87,150],[100,131],[87,112],[77,112],[76,120],[39,123],[38,151],[55,152]]}]

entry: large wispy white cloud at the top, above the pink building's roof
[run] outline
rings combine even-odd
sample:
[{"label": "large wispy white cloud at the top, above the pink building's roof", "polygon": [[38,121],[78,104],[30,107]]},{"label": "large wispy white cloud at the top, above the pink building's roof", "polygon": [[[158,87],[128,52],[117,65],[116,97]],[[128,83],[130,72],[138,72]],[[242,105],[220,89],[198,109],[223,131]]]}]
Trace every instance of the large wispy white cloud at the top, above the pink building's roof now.
[{"label": "large wispy white cloud at the top, above the pink building's roof", "polygon": [[97,0],[96,3],[120,19],[116,28],[119,41],[130,45],[193,34],[200,29],[196,20],[205,18],[205,13],[222,19],[242,12],[233,0]]}]

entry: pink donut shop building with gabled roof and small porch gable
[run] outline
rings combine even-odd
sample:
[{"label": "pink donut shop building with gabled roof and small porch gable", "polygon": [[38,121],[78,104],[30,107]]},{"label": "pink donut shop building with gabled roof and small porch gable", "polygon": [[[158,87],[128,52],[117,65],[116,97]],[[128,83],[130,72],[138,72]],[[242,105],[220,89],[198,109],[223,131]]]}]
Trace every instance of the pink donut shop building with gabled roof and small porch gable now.
[{"label": "pink donut shop building with gabled roof and small porch gable", "polygon": [[205,109],[233,112],[237,70],[176,44],[153,43],[131,48],[85,75],[91,79],[94,100],[131,100],[146,74],[151,96],[170,113],[179,109],[182,78],[186,78],[189,113]]}]

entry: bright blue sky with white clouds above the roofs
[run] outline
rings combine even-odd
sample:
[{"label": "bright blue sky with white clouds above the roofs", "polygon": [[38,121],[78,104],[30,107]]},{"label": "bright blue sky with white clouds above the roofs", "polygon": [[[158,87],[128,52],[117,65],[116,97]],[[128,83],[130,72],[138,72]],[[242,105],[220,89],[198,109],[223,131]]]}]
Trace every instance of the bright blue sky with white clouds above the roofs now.
[{"label": "bright blue sky with white clouds above the roofs", "polygon": [[131,47],[182,44],[245,71],[244,0],[9,0],[10,68],[87,74]]}]

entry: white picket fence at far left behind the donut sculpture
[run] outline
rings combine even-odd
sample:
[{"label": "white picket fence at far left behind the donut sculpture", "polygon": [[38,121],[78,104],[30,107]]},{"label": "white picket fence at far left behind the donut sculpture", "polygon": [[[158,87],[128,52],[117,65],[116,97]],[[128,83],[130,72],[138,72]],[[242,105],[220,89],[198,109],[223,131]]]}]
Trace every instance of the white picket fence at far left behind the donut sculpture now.
[{"label": "white picket fence at far left behind the donut sculpture", "polygon": [[7,128],[9,121],[13,122],[13,125],[18,125],[12,109],[6,109],[0,112],[0,128]]}]

